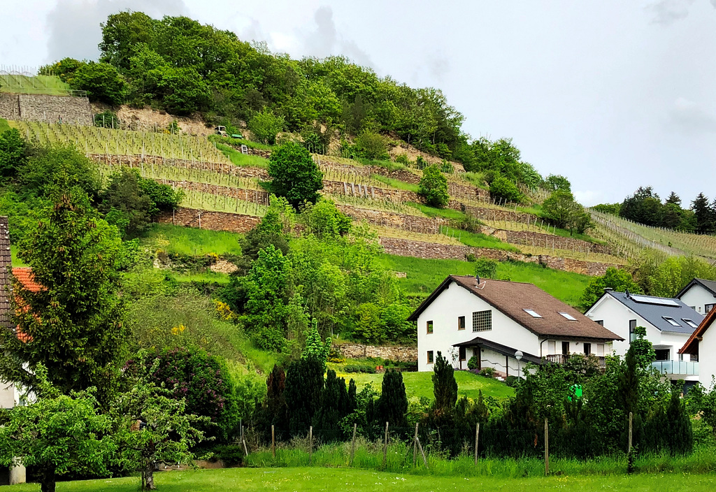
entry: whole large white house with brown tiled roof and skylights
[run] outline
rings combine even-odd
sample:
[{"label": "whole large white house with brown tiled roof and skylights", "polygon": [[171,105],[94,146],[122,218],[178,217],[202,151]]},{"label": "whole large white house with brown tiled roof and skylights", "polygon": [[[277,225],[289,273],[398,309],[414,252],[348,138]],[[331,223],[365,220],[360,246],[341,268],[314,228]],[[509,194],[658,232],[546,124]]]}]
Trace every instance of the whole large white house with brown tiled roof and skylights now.
[{"label": "whole large white house with brown tiled roof and skylights", "polygon": [[467,369],[475,355],[480,368],[503,375],[575,353],[604,363],[612,342],[621,340],[536,285],[458,275],[446,278],[408,320],[417,321],[420,371],[432,370],[438,352],[457,369]]}]

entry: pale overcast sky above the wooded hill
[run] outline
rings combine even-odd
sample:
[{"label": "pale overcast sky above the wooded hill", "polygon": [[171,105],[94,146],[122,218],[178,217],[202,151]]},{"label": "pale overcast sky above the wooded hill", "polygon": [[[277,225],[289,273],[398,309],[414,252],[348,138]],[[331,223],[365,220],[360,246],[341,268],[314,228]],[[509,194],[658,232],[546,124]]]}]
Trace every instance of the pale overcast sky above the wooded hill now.
[{"label": "pale overcast sky above the wooded hill", "polygon": [[3,0],[0,65],[96,59],[124,9],[438,87],[466,132],[512,137],[584,205],[640,185],[716,195],[716,0]]}]

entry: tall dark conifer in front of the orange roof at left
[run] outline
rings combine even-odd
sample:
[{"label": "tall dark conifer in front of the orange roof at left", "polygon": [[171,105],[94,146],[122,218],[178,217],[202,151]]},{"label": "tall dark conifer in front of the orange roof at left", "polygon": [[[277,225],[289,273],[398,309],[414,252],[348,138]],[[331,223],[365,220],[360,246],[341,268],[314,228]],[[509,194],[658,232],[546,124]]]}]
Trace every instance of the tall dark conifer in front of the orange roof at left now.
[{"label": "tall dark conifer in front of the orange roof at left", "polygon": [[0,330],[0,375],[34,388],[42,364],[63,393],[96,387],[105,400],[125,355],[117,230],[97,217],[87,195],[57,192],[19,244],[42,288],[13,281],[14,323],[29,338]]}]

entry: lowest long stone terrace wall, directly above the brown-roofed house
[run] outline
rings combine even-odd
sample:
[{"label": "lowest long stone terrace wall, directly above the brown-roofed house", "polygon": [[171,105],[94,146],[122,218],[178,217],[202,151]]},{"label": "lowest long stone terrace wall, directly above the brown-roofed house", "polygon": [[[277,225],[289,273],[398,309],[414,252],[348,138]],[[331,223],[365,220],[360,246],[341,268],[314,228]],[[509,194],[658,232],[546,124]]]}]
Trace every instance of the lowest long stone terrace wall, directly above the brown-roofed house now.
[{"label": "lowest long stone terrace wall, directly above the brown-roofed house", "polygon": [[468,254],[475,257],[490,258],[498,261],[520,261],[543,265],[553,270],[564,270],[584,275],[604,275],[609,267],[617,267],[611,263],[573,260],[571,258],[553,257],[548,255],[523,255],[522,253],[488,248],[469,247],[462,245],[442,245],[435,242],[413,241],[394,237],[381,237],[380,244],[384,252],[390,255],[412,256],[433,260],[465,260]]}]

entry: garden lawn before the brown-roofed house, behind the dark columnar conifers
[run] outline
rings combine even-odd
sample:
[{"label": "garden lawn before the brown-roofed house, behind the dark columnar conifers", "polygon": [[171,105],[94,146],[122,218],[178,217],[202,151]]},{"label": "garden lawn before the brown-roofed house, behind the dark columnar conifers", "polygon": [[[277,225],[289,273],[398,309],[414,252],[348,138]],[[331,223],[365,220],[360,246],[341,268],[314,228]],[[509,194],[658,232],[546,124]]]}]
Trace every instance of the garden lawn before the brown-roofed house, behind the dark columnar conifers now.
[{"label": "garden lawn before the brown-roofed house, behind the dark columnar conifers", "polygon": [[[334,368],[337,374],[346,380],[353,379],[360,391],[364,385],[372,383],[374,389],[380,391],[380,384],[383,380],[382,374],[365,374],[365,373],[341,373],[340,365],[329,364]],[[405,383],[405,393],[408,398],[430,398],[432,400],[432,371],[426,373],[403,373],[403,382]],[[515,394],[515,391],[505,383],[490,378],[484,378],[466,370],[456,370],[455,380],[458,381],[458,394],[465,395],[468,398],[478,398],[478,391],[482,390],[483,396],[493,396],[494,398],[508,398]]]}]

